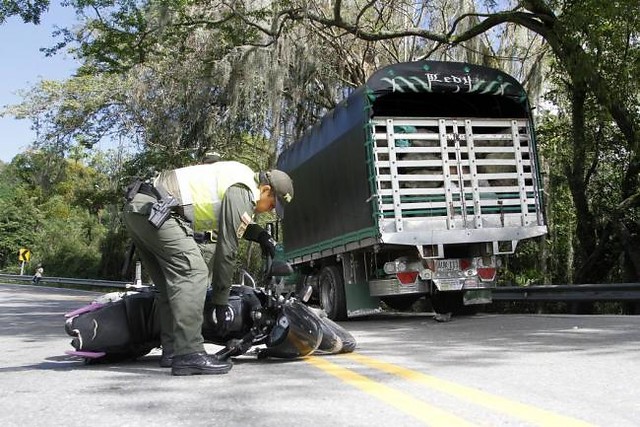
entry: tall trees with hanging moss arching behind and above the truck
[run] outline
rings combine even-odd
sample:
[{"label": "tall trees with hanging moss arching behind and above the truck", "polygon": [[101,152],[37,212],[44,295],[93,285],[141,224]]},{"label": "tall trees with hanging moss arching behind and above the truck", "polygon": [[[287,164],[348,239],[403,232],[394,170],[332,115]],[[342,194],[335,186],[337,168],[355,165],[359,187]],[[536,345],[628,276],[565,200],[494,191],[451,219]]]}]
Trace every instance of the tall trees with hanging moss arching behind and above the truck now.
[{"label": "tall trees with hanging moss arching behind and above the truck", "polygon": [[[46,189],[66,167],[60,158],[103,138],[135,147],[118,157],[112,182],[191,164],[210,149],[268,167],[384,65],[497,67],[524,83],[536,107],[549,170],[548,276],[637,280],[636,3],[71,0],[80,25],[49,52],[76,55],[77,75],[41,82],[9,113],[30,119],[34,148],[53,156],[48,175],[28,178]],[[0,23],[35,23],[46,6],[5,2]]]}]

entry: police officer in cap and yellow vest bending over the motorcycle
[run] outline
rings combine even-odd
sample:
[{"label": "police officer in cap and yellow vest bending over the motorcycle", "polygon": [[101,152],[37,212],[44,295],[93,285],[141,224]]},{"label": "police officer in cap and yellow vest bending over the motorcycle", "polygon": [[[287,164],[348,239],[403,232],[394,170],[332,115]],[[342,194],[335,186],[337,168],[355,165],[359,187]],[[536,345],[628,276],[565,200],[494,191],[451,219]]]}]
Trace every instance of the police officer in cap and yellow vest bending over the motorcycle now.
[{"label": "police officer in cap and yellow vest bending over the motorcycle", "polygon": [[[161,366],[171,366],[173,375],[224,374],[232,367],[204,350],[202,311],[209,269],[194,232],[214,234],[212,302],[217,323],[224,327],[238,240],[258,241],[263,249],[275,252],[273,240],[253,216],[274,208],[282,216],[292,198],[293,182],[286,173],[276,169],[254,173],[232,161],[165,171],[153,185],[142,184],[129,192],[124,222],[159,290]],[[161,224],[152,223],[167,200],[175,200],[169,204],[176,205],[171,215]]]}]

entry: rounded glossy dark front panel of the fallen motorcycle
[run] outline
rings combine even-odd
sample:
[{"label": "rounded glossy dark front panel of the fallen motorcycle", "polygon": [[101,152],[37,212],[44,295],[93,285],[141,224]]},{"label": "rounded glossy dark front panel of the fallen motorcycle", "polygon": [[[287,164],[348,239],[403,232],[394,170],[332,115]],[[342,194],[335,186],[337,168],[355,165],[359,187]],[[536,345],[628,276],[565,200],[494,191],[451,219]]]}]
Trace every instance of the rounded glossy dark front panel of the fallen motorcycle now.
[{"label": "rounded glossy dark front panel of the fallen motorcycle", "polygon": [[317,316],[304,304],[294,301],[282,306],[276,325],[266,342],[271,357],[291,359],[313,353],[322,342]]}]

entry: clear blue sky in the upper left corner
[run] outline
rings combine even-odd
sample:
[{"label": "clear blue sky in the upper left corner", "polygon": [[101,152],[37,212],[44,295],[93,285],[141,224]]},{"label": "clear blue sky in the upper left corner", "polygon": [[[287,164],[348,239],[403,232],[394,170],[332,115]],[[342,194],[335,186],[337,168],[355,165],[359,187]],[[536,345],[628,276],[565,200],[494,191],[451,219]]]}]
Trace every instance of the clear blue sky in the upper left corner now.
[{"label": "clear blue sky in the upper left corner", "polygon": [[[40,80],[64,80],[78,67],[68,55],[47,58],[40,52],[40,48],[54,45],[56,26],[70,27],[76,21],[73,9],[63,8],[55,0],[51,3],[40,25],[25,24],[15,16],[0,24],[0,110],[20,103],[19,90],[26,91]],[[28,120],[0,118],[1,161],[8,163],[28,148],[35,139],[30,127]]]}]

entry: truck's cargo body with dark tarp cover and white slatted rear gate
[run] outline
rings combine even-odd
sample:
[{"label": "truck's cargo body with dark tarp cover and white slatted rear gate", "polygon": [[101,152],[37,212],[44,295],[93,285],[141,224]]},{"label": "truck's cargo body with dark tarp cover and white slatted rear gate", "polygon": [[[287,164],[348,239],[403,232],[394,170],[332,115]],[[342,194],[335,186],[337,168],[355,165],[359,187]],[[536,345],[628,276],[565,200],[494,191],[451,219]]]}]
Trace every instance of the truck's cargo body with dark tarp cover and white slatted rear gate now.
[{"label": "truck's cargo body with dark tarp cover and white slatted rear gate", "polygon": [[474,242],[501,253],[545,234],[530,123],[521,85],[498,70],[379,70],[279,156],[296,187],[286,257],[372,245],[439,245],[441,256],[442,245]]}]

